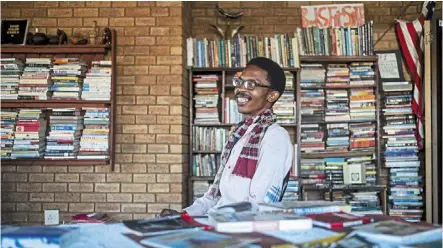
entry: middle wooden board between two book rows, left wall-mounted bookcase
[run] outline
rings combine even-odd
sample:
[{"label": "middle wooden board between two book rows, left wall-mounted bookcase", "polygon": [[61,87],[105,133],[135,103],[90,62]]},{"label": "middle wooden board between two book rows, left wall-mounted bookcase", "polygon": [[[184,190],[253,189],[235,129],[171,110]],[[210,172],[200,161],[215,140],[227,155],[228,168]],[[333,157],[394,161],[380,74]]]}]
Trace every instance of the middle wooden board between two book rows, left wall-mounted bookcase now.
[{"label": "middle wooden board between two book rows, left wall-mounted bookcase", "polygon": [[111,101],[86,100],[2,100],[2,108],[81,108],[106,107]]}]

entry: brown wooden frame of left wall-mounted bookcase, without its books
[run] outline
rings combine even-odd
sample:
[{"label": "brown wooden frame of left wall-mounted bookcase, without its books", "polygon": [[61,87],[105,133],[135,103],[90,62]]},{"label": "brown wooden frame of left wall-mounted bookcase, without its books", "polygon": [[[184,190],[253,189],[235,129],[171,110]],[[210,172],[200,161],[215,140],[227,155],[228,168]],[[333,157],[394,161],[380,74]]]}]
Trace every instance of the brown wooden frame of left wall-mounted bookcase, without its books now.
[{"label": "brown wooden frame of left wall-mounted bookcase, without its books", "polygon": [[2,165],[111,165],[115,163],[115,108],[116,108],[116,80],[117,80],[117,36],[112,30],[112,44],[110,45],[1,45],[2,58],[17,58],[25,61],[26,58],[64,58],[75,57],[86,62],[112,61],[111,98],[109,101],[94,100],[1,100],[2,108],[82,108],[107,107],[109,108],[109,159],[6,159]]}]

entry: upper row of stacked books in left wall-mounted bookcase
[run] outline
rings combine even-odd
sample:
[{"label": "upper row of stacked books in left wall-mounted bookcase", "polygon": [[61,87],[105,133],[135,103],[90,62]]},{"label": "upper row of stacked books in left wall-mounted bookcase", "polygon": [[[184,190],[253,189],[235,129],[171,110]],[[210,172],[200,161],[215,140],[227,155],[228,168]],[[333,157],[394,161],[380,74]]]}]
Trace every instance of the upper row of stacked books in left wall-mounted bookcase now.
[{"label": "upper row of stacked books in left wall-mounted bookcase", "polygon": [[2,58],[1,97],[9,100],[110,100],[111,61],[79,58]]}]

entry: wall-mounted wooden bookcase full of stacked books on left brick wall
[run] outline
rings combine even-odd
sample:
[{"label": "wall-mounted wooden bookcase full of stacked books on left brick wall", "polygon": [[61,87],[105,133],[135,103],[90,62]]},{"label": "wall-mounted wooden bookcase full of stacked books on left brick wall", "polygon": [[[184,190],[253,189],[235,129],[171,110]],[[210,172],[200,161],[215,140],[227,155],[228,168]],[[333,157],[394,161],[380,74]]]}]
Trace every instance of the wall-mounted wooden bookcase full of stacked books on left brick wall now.
[{"label": "wall-mounted wooden bookcase full of stacked books on left brick wall", "polygon": [[2,165],[111,165],[116,39],[2,45]]}]

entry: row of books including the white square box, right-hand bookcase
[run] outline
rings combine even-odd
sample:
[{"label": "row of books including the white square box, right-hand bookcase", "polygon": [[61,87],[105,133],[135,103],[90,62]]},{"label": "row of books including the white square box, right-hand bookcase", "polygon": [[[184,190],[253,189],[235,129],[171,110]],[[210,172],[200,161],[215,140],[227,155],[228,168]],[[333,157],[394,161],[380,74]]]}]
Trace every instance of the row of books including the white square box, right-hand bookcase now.
[{"label": "row of books including the white square box, right-hand bookcase", "polygon": [[300,160],[301,185],[375,185],[373,156]]}]

